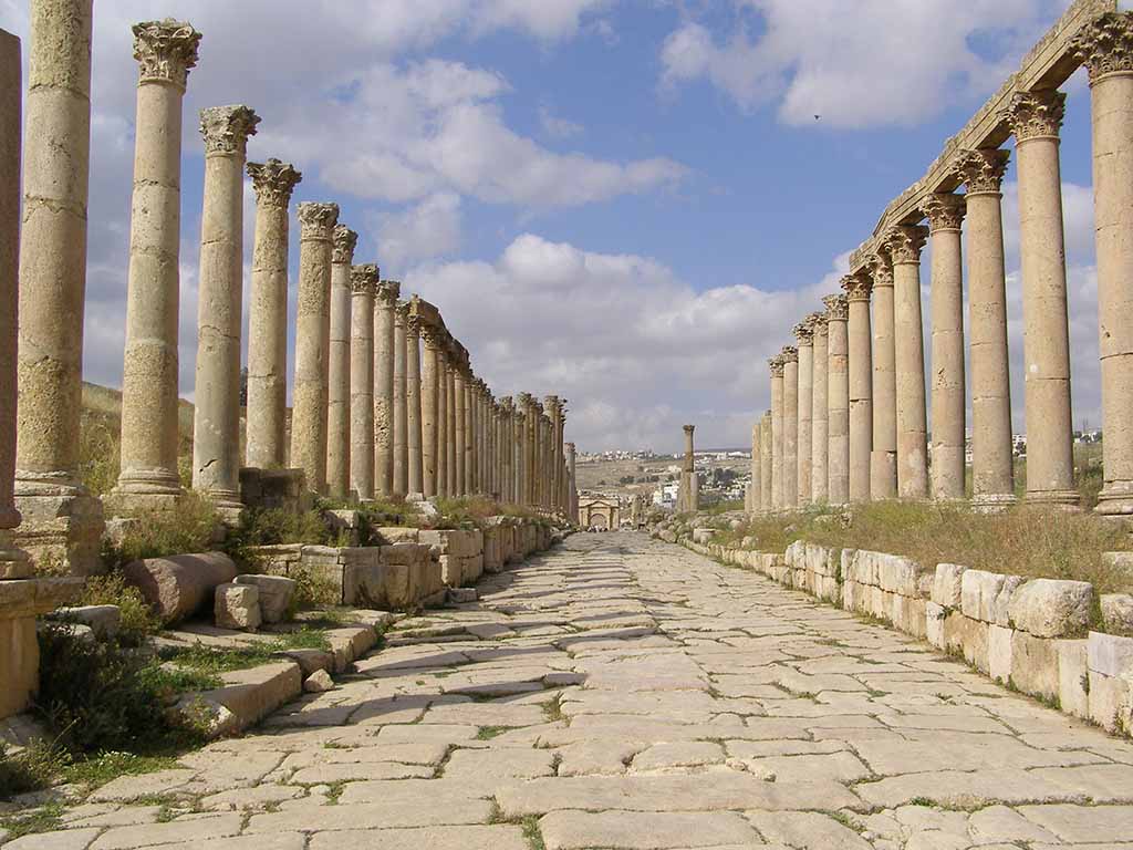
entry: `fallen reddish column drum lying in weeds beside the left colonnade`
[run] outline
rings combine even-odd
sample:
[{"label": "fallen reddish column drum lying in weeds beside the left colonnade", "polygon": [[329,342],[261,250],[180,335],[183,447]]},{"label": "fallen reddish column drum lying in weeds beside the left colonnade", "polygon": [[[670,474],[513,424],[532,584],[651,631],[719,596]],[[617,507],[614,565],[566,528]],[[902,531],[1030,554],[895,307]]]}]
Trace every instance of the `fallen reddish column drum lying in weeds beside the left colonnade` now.
[{"label": "fallen reddish column drum lying in weeds beside the left colonnade", "polygon": [[213,600],[218,585],[236,578],[236,564],[222,552],[131,561],[126,580],[168,623],[179,622]]}]

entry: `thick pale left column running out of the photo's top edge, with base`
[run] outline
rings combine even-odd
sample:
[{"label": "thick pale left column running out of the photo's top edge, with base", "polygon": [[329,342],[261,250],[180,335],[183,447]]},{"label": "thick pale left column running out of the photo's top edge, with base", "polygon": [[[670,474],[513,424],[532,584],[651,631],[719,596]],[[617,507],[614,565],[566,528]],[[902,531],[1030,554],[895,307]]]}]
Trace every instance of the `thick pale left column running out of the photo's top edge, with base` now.
[{"label": "thick pale left column running out of the photo's top edge, with base", "polygon": [[[5,372],[0,379],[0,444],[5,451],[0,534],[19,522],[11,501],[12,469],[7,454],[14,451],[16,504],[24,518],[17,539],[35,560],[56,560],[76,573],[99,568],[103,528],[102,503],[86,491],[78,471],[91,154],[91,3],[31,3],[23,238],[10,256],[11,299],[6,290],[0,320],[11,323],[2,345],[10,345],[12,358],[18,355],[18,360],[11,362],[7,351],[0,357]],[[6,103],[9,111],[3,114],[3,120],[10,121],[3,131],[14,134],[3,168],[14,169],[15,239],[20,232],[19,41],[7,33],[5,36],[11,40],[6,59],[10,58],[15,68],[6,68],[10,77],[3,79],[5,99],[15,97],[15,107]],[[7,392],[9,366],[16,382],[11,384],[14,393],[18,384],[18,406],[16,396]],[[10,428],[16,431],[9,434]],[[5,578],[7,550],[0,541],[0,578]],[[20,563],[23,558],[19,553]]]}]

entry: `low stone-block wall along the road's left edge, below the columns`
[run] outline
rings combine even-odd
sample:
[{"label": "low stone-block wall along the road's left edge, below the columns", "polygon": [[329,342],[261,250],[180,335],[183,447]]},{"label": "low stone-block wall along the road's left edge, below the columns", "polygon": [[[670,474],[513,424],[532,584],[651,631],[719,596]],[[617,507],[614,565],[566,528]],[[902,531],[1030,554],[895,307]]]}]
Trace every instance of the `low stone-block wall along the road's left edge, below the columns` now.
[{"label": "low stone-block wall along the road's left edge, below the columns", "polygon": [[377,535],[383,541],[377,546],[296,543],[254,552],[271,575],[307,573],[329,581],[343,605],[403,611],[440,604],[448,588],[472,585],[553,542],[547,527],[511,517],[493,517],[484,530],[393,526]]}]

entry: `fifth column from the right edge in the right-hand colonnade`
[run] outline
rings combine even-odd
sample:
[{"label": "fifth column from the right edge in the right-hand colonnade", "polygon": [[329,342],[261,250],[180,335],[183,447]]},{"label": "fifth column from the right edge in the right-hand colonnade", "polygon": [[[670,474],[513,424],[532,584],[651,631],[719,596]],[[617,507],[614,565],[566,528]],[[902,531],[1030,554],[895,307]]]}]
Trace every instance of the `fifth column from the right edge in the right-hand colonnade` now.
[{"label": "fifth column from the right edge in the right-hand colonnade", "polygon": [[928,411],[925,409],[925,330],[920,306],[921,224],[900,224],[886,247],[893,261],[893,335],[897,385],[897,495],[928,498]]}]

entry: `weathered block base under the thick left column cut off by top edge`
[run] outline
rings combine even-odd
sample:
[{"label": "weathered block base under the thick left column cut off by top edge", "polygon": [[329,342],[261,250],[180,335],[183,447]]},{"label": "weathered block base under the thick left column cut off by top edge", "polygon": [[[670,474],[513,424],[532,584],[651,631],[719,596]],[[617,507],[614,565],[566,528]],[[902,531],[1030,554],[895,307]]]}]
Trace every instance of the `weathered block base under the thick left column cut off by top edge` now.
[{"label": "weathered block base under the thick left column cut off by top edge", "polygon": [[27,552],[34,572],[93,576],[102,572],[102,501],[86,492],[19,493],[16,507],[24,517],[12,539]]}]

